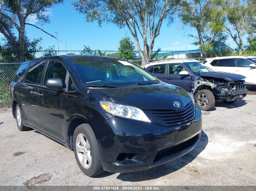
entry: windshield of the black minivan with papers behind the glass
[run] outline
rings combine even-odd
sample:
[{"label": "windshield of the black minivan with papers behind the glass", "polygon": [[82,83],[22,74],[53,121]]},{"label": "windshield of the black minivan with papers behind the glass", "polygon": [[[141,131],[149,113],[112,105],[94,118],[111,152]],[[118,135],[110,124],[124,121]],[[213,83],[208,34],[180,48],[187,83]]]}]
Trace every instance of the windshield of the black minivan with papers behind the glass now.
[{"label": "windshield of the black minivan with papers behind the glass", "polygon": [[108,57],[80,56],[72,58],[72,67],[86,85],[127,86],[160,83],[154,76],[124,60]]}]

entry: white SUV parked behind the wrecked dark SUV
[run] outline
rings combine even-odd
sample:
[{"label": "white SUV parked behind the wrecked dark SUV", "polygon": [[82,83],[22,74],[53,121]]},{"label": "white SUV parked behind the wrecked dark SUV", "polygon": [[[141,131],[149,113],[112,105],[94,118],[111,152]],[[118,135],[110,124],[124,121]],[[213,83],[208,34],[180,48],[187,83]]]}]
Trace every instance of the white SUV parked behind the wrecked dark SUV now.
[{"label": "white SUV parked behind the wrecked dark SUV", "polygon": [[245,76],[245,84],[256,85],[256,56],[224,56],[208,58],[205,65],[216,72],[229,72]]}]

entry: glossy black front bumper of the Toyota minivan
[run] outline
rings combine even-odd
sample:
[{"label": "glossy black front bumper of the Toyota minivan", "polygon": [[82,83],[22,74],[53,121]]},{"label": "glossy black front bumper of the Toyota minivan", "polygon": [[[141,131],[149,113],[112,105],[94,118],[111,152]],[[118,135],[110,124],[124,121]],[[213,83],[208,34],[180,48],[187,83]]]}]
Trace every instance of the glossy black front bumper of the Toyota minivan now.
[{"label": "glossy black front bumper of the Toyota minivan", "polygon": [[201,111],[197,108],[194,120],[182,126],[165,127],[113,117],[92,128],[103,169],[134,172],[167,163],[191,151],[201,137]]}]

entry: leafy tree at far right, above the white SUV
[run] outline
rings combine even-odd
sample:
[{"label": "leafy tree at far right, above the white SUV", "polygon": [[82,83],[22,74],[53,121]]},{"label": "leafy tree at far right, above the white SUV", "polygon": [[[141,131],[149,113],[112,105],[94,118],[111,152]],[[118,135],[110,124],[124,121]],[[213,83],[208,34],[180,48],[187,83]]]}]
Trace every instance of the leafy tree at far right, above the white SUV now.
[{"label": "leafy tree at far right, above the white SUV", "polygon": [[[226,0],[225,12],[226,21],[225,31],[228,33],[238,46],[239,55],[249,46],[249,41],[256,34],[256,7],[255,0]],[[244,36],[247,40],[244,41]]]}]

